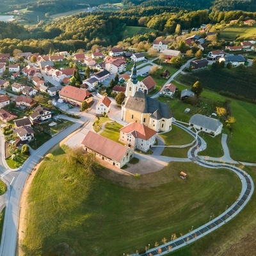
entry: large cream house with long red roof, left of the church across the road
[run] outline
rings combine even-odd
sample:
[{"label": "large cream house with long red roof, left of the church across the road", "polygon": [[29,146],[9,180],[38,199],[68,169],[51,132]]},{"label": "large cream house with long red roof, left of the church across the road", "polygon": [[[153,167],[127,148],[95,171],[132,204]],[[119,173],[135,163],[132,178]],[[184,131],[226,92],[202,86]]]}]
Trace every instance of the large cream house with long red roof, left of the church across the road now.
[{"label": "large cream house with long red roof, left of the church across the road", "polygon": [[64,102],[68,102],[79,107],[81,107],[84,100],[88,104],[93,100],[93,96],[90,92],[70,85],[66,85],[61,88],[59,95],[60,99],[62,99]]}]

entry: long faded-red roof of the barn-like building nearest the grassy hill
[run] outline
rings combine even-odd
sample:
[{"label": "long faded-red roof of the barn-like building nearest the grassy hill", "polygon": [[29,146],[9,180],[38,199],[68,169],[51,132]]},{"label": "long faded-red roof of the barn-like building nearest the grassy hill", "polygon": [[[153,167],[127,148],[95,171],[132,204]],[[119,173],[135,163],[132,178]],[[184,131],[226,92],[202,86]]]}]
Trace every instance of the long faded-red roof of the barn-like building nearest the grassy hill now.
[{"label": "long faded-red roof of the barn-like building nearest the grassy hill", "polygon": [[[95,143],[95,141],[97,141],[97,143]],[[100,155],[115,160],[118,163],[122,161],[122,158],[129,148],[92,131],[88,132],[82,144],[84,147],[88,147],[94,152],[98,152]]]}]

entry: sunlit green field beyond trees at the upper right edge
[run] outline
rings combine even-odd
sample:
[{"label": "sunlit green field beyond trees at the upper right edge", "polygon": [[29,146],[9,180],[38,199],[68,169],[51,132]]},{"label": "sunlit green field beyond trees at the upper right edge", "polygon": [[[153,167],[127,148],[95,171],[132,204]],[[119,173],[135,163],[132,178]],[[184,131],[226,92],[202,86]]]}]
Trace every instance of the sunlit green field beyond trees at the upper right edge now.
[{"label": "sunlit green field beyond trees at the upper right edge", "polygon": [[256,38],[256,25],[254,26],[230,26],[220,30],[220,39],[227,41],[235,40],[237,37]]}]

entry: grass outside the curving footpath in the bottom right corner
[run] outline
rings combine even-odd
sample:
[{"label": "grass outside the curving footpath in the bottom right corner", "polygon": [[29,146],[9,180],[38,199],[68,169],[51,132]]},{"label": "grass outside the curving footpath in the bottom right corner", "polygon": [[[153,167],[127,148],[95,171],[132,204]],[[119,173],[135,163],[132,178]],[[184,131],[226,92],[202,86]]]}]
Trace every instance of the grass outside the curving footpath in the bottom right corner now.
[{"label": "grass outside the curving footpath in the bottom right corner", "polygon": [[[256,167],[248,166],[243,169],[256,180]],[[231,185],[230,183],[230,186]],[[170,256],[255,256],[256,243],[256,194],[253,196],[232,221],[211,234],[198,239],[180,250],[169,253]],[[228,204],[230,206],[230,204]]]}]

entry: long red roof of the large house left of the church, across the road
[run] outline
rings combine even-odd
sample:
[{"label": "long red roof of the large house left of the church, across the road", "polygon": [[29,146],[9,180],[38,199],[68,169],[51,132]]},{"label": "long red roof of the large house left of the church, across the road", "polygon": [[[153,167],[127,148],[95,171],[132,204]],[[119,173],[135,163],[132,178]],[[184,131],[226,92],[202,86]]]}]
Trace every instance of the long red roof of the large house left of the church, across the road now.
[{"label": "long red roof of the large house left of the church, across the road", "polygon": [[59,94],[63,97],[77,100],[79,102],[83,102],[86,97],[92,97],[92,94],[90,92],[70,85],[66,85],[61,88]]}]

